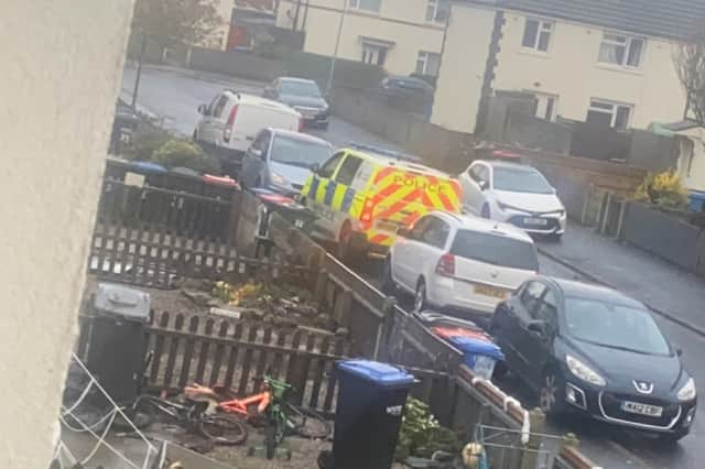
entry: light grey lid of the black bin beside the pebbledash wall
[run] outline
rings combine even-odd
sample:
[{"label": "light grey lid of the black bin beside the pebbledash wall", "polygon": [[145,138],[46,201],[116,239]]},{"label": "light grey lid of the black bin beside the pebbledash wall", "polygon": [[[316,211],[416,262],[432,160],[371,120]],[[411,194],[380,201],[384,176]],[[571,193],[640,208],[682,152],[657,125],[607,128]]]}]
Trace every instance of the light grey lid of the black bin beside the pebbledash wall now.
[{"label": "light grey lid of the black bin beside the pebbledash wall", "polygon": [[102,314],[145,323],[150,316],[150,294],[115,283],[99,283],[94,301]]}]

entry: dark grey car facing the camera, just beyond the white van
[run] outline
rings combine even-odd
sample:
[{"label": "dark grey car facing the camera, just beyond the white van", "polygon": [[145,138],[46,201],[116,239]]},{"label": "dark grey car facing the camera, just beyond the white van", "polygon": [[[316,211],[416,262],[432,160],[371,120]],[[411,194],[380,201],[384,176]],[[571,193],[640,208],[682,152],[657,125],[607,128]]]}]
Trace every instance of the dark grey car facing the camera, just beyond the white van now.
[{"label": "dark grey car facing the camera, just beyond the white van", "polygon": [[296,109],[304,124],[328,129],[328,103],[314,80],[281,77],[264,88],[263,96]]}]

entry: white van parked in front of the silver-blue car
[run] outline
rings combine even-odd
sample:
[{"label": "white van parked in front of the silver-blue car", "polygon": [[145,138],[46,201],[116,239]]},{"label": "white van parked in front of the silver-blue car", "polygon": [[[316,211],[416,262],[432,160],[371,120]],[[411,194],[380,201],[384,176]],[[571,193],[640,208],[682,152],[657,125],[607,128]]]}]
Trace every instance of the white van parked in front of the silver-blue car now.
[{"label": "white van parked in front of the silver-blue car", "polygon": [[220,159],[224,171],[237,171],[245,151],[257,134],[268,127],[299,131],[301,114],[281,102],[225,90],[210,105],[198,106],[202,114],[194,141]]}]

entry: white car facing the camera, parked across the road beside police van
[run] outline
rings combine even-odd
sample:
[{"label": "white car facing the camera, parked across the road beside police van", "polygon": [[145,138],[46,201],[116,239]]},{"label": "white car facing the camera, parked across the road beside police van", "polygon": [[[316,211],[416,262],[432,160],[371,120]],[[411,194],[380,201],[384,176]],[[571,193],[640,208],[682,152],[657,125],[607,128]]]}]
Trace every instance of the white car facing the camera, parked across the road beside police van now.
[{"label": "white car facing the camera, parked across the road beside police van", "polygon": [[565,207],[534,167],[478,160],[458,181],[463,208],[473,215],[507,221],[531,233],[560,238],[565,232]]}]

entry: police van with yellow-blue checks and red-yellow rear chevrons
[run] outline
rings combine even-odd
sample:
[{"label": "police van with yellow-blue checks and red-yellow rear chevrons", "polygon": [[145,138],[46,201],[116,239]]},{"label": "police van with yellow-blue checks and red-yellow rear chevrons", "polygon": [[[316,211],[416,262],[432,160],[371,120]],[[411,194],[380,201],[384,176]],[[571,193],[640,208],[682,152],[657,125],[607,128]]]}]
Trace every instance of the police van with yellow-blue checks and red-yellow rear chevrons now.
[{"label": "police van with yellow-blue checks and red-yellow rear chevrons", "polygon": [[316,214],[315,238],[340,259],[384,254],[397,230],[431,210],[459,212],[460,185],[411,155],[364,145],[337,151],[314,167],[301,201]]}]

